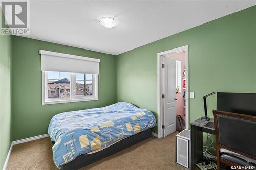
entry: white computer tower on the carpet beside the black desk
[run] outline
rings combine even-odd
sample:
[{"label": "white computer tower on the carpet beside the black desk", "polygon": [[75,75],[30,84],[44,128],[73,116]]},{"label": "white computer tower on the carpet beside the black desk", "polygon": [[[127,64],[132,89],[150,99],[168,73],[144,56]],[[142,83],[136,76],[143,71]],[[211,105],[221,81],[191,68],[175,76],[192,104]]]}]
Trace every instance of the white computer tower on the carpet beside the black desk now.
[{"label": "white computer tower on the carpet beside the black desk", "polygon": [[190,131],[176,135],[176,163],[190,169]]}]

